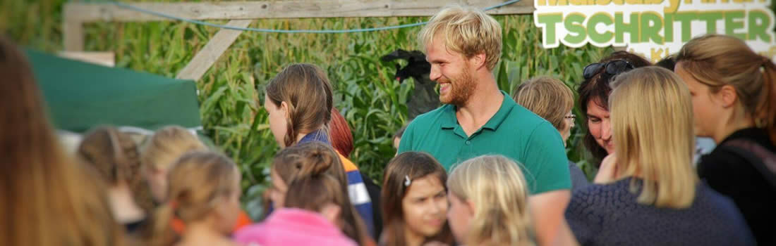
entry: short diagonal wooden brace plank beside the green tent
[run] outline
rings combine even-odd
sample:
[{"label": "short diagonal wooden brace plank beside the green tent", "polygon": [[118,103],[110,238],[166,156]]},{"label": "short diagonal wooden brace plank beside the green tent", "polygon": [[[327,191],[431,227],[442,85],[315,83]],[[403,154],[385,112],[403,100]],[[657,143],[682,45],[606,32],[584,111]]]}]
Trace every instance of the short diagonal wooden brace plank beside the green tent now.
[{"label": "short diagonal wooden brace plank beside the green tent", "polygon": [[[248,27],[251,22],[253,20],[239,19],[230,21],[227,23],[227,26]],[[203,49],[196,53],[194,59],[189,64],[186,64],[186,67],[176,77],[184,80],[199,80],[213,66],[213,63],[216,63],[218,57],[234,43],[234,40],[237,39],[237,36],[240,36],[240,33],[242,31],[232,29],[221,29],[218,31],[213,36],[213,39],[210,39]]]}]

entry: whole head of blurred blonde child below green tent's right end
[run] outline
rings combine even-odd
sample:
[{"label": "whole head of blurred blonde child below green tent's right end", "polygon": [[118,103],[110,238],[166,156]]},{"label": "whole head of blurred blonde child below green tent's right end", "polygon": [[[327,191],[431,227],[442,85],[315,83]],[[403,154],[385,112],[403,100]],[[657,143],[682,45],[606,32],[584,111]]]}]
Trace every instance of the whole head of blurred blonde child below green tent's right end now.
[{"label": "whole head of blurred blonde child below green tent's right end", "polygon": [[154,200],[165,200],[167,174],[175,160],[186,152],[204,150],[207,150],[207,147],[185,128],[168,126],[155,132],[140,152],[142,173],[151,187]]}]

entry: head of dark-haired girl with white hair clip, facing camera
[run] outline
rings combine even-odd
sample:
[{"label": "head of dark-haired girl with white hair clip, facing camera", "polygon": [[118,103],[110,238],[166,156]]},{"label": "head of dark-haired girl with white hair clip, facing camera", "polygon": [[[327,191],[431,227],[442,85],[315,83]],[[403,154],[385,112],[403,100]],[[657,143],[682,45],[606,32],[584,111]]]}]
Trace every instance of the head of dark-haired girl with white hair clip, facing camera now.
[{"label": "head of dark-haired girl with white hair clip, facing camera", "polygon": [[386,245],[407,244],[407,233],[452,243],[446,182],[445,168],[427,153],[404,152],[391,159],[381,196]]}]

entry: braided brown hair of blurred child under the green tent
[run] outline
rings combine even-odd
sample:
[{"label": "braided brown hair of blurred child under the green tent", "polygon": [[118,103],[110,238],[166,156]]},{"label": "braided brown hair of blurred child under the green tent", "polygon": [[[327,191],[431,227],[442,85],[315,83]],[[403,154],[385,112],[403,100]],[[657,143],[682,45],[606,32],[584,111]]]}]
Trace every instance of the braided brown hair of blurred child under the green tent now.
[{"label": "braided brown hair of blurred child under the green tent", "polygon": [[126,183],[135,203],[145,212],[153,209],[151,192],[140,176],[140,153],[129,135],[113,127],[95,128],[81,140],[78,156],[94,166],[109,185]]}]

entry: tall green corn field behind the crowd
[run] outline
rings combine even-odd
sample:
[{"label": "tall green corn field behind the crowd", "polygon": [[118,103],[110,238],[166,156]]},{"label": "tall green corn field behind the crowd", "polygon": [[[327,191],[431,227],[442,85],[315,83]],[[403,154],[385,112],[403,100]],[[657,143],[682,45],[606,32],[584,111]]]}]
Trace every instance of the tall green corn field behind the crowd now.
[{"label": "tall green corn field behind the crowd", "polygon": [[[0,30],[36,50],[63,50],[61,9],[64,0],[0,2]],[[172,1],[176,2],[176,1]],[[268,29],[357,29],[421,22],[428,18],[341,18],[256,20],[250,27]],[[501,90],[510,93],[530,77],[550,75],[573,89],[587,63],[611,48],[540,47],[542,33],[532,15],[497,16],[504,29],[501,63],[494,71]],[[217,23],[226,23],[220,21]],[[354,136],[350,156],[362,172],[381,182],[383,167],[393,157],[393,133],[407,123],[411,80],[393,79],[393,63],[380,56],[397,49],[419,50],[420,27],[348,34],[269,34],[244,32],[220,60],[197,81],[205,134],[243,172],[244,202],[251,214],[265,186],[268,163],[279,150],[267,125],[260,97],[262,84],[289,63],[314,63],[327,71],[335,89],[335,106]],[[100,22],[85,26],[85,50],[113,51],[116,67],[175,77],[218,29],[182,22]],[[259,91],[257,91],[257,87]],[[574,110],[580,113],[578,105]],[[591,173],[581,146],[582,118],[568,142],[569,158]]]}]

